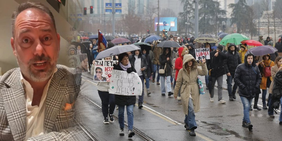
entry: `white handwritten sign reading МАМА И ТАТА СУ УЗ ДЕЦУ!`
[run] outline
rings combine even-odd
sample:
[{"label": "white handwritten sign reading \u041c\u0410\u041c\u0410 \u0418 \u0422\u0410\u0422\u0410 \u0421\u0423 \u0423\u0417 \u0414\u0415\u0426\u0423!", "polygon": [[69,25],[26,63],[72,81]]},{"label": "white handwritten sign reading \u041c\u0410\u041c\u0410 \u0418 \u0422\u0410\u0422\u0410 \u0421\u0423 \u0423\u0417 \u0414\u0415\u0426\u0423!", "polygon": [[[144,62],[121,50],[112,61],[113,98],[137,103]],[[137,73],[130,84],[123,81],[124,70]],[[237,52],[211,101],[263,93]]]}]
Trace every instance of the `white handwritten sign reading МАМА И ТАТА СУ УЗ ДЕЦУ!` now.
[{"label": "white handwritten sign reading \u041c\u0410\u041c\u0410 \u0418 \u0422\u0410\u0422\u0410 \u0421\u0423 \u0423\u0417 \u0414\u0415\u0426\u0423!", "polygon": [[142,81],[137,73],[113,70],[109,93],[116,95],[142,95]]}]

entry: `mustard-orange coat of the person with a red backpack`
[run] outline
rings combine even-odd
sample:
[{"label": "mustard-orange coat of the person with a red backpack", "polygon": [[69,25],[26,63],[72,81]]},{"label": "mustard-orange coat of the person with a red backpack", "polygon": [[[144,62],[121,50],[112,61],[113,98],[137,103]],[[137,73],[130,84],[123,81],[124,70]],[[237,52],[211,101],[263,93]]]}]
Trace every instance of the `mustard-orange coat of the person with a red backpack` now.
[{"label": "mustard-orange coat of the person with a red backpack", "polygon": [[[273,66],[274,66],[274,62],[270,60],[270,55],[267,54],[267,56],[268,56],[268,60],[263,60],[263,63],[264,63],[263,67],[261,67],[261,66],[259,65],[259,69],[260,69],[261,72],[262,72],[262,73],[261,73],[262,79],[261,79],[261,85],[260,85],[260,88],[261,88],[262,90],[266,90],[266,83],[267,83],[267,77],[264,76],[263,70],[264,70],[264,68],[265,68],[266,66],[270,66],[270,67],[273,67]],[[273,79],[272,79],[271,76],[270,76],[270,80],[271,80],[271,82],[273,81]]]}]

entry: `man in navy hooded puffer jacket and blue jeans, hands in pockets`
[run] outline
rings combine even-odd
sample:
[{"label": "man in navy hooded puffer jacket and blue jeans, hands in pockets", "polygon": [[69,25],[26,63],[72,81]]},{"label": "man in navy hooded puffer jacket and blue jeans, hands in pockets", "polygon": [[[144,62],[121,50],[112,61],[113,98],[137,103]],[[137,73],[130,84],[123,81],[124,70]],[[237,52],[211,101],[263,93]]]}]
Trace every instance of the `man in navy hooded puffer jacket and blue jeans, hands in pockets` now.
[{"label": "man in navy hooded puffer jacket and blue jeans, hands in pockets", "polygon": [[249,117],[250,105],[261,83],[261,73],[253,59],[254,54],[247,52],[244,63],[237,67],[234,76],[234,82],[239,86],[239,96],[244,107],[242,126],[249,128],[249,130],[253,129]]}]

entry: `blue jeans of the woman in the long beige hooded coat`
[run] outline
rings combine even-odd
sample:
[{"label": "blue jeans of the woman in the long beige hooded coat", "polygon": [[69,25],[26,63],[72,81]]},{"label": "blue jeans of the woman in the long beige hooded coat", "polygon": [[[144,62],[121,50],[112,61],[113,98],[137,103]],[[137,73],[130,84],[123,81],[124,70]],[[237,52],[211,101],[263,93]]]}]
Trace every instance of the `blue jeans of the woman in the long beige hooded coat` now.
[{"label": "blue jeans of the woman in the long beige hooded coat", "polygon": [[192,129],[192,128],[196,129],[197,128],[192,98],[189,98],[188,115],[185,115],[184,123],[187,124],[190,129]]}]

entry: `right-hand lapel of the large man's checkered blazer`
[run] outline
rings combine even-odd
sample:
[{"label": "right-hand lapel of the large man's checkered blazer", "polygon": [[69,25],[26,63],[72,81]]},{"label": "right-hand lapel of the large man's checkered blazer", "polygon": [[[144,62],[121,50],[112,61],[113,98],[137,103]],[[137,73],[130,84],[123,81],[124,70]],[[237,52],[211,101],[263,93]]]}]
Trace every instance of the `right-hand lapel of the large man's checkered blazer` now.
[{"label": "right-hand lapel of the large man's checkered blazer", "polygon": [[[59,71],[59,70],[58,70]],[[44,134],[53,131],[56,118],[62,109],[61,104],[66,91],[66,80],[60,76],[60,72],[53,75],[46,96]]]}]

